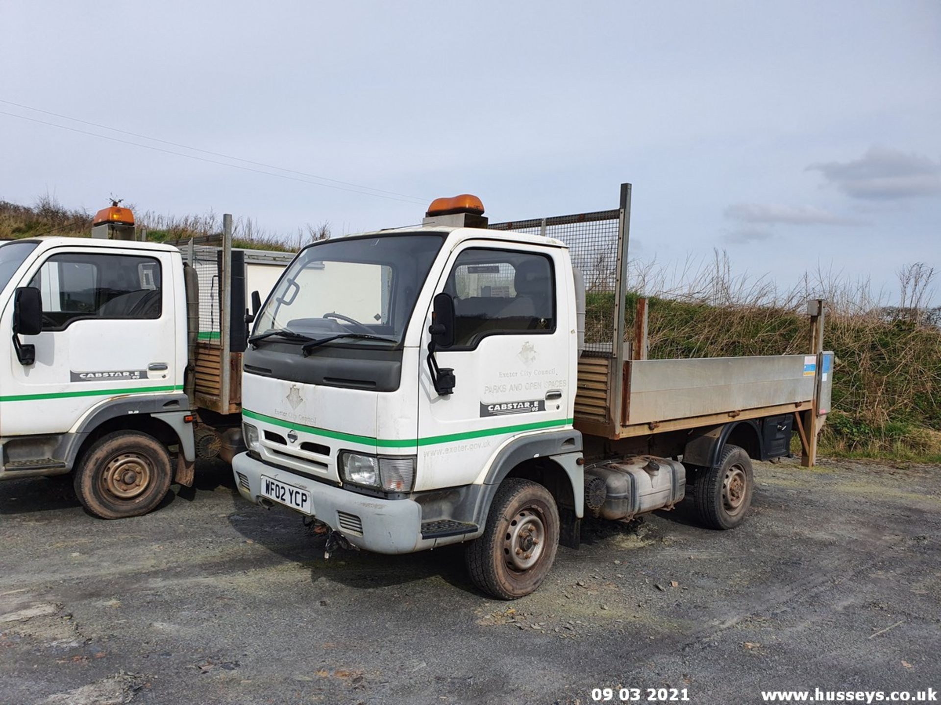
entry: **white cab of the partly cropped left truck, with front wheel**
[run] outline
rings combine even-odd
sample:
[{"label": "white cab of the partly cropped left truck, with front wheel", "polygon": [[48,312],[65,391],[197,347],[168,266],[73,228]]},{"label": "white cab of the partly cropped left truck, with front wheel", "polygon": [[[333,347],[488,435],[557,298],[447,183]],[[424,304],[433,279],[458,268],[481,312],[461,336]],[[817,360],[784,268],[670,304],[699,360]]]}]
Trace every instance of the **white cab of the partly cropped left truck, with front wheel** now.
[{"label": "white cab of the partly cropped left truck, with front wheel", "polygon": [[181,254],[168,245],[0,246],[0,330],[10,336],[0,346],[0,479],[69,473],[119,446],[126,453],[88,476],[80,498],[105,516],[152,509],[172,475],[163,446],[194,460],[185,301]]}]

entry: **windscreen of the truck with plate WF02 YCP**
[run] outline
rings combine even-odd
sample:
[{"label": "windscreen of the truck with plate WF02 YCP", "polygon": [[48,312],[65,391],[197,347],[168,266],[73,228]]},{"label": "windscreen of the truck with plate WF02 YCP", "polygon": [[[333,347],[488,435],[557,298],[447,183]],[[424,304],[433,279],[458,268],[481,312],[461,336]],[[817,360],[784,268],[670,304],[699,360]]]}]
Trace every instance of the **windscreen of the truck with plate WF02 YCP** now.
[{"label": "windscreen of the truck with plate WF02 YCP", "polygon": [[343,338],[337,344],[399,344],[443,242],[443,234],[405,234],[312,244],[281,275],[254,335],[353,333],[386,340]]}]

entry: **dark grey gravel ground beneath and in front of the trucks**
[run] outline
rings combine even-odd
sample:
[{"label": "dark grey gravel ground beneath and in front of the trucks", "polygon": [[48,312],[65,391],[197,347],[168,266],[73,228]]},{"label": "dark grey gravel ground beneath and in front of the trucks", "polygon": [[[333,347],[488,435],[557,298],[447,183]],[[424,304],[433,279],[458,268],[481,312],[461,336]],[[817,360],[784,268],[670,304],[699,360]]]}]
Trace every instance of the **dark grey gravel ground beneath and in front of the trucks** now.
[{"label": "dark grey gravel ground beneath and in front of the trucks", "polygon": [[[460,547],[325,561],[228,467],[120,522],[68,479],[0,485],[0,703],[589,703],[594,687],[941,686],[941,467],[758,463],[739,529],[684,505],[583,526],[534,595]],[[177,488],[174,488],[177,489]],[[643,693],[646,699],[646,691]],[[616,691],[615,691],[616,701]]]}]

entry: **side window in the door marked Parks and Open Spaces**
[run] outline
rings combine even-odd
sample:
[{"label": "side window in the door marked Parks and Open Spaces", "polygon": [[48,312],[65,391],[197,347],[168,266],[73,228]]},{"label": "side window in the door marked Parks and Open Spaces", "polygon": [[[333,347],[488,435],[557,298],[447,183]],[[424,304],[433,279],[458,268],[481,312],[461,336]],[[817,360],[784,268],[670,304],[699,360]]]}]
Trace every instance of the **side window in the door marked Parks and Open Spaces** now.
[{"label": "side window in the door marked Parks and Open Spaces", "polygon": [[552,260],[545,255],[464,250],[445,290],[455,298],[455,348],[485,336],[555,330]]}]

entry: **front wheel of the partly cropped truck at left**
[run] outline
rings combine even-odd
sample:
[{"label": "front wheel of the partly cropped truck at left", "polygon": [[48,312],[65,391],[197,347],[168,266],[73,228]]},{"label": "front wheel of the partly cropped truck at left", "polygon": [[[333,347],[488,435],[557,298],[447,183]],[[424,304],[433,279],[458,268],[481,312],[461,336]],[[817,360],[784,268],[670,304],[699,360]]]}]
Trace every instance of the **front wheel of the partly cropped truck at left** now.
[{"label": "front wheel of the partly cropped truck at left", "polygon": [[139,516],[167,495],[172,466],[167,448],[138,431],[115,431],[88,447],[75,468],[82,506],[102,519]]}]

